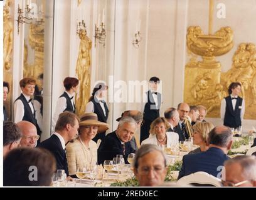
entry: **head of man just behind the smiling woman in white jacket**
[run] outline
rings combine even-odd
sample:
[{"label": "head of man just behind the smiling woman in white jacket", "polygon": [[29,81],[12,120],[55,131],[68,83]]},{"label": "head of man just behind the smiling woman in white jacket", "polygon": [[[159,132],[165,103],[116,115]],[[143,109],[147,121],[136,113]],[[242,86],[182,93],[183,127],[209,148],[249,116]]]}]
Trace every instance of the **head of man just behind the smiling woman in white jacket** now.
[{"label": "head of man just behind the smiling woman in white jacket", "polygon": [[179,124],[179,113],[176,108],[168,108],[164,111],[164,118],[168,121],[171,126],[167,131],[175,132],[174,127]]}]

